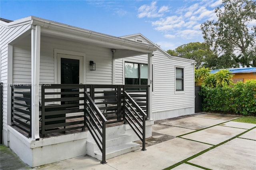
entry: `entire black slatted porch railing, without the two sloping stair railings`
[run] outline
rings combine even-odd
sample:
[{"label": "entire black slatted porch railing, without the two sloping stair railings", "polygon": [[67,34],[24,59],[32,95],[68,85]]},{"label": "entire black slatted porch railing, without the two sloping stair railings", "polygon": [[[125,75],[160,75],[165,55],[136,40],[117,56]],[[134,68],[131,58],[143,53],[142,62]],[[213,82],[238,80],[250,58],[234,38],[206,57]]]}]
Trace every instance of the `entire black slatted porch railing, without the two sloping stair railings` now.
[{"label": "entire black slatted porch railing, without the two sloping stair railings", "polygon": [[[90,95],[107,123],[125,120],[126,91],[135,105],[148,111],[148,85],[67,85],[42,84],[39,117],[40,134],[43,136],[68,130],[85,130],[85,92]],[[130,108],[130,107],[129,107]],[[135,107],[134,107],[135,108]],[[95,110],[95,109],[94,109]],[[12,86],[12,125],[31,136],[31,86]],[[130,114],[130,113],[129,113]],[[141,113],[140,113],[141,114]],[[128,119],[128,118],[127,118]],[[145,125],[145,123],[143,123]],[[71,131],[72,132],[72,131]]]}]

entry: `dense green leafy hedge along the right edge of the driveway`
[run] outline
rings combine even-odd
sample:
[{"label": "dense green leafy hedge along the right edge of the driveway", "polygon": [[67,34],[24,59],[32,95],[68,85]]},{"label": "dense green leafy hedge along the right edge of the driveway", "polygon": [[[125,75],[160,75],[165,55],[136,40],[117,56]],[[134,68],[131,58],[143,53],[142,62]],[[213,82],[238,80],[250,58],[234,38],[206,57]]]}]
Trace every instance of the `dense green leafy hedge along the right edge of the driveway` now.
[{"label": "dense green leafy hedge along the right edge of the driveway", "polygon": [[256,116],[256,80],[225,87],[202,85],[203,111]]}]

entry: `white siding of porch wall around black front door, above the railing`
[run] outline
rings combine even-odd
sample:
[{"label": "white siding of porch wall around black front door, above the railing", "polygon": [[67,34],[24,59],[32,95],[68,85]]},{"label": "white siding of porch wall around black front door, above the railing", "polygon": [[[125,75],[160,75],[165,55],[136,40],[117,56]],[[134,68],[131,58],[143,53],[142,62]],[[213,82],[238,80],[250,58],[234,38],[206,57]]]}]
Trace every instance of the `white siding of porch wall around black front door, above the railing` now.
[{"label": "white siding of porch wall around black front door, above the railing", "polygon": [[[26,42],[26,43],[25,43]],[[13,83],[31,83],[30,37],[14,46]],[[55,83],[54,49],[64,49],[85,53],[87,84],[112,84],[112,52],[110,49],[94,47],[41,36],[40,83]],[[90,71],[90,60],[96,63],[96,71]]]}]

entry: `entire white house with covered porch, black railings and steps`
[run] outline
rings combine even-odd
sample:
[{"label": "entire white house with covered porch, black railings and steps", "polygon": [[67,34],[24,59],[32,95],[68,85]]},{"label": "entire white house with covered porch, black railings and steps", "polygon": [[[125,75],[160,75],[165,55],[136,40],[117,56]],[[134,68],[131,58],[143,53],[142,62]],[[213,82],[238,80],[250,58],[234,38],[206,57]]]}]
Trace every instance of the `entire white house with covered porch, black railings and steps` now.
[{"label": "entire white house with covered porch, black railings and steps", "polygon": [[85,154],[106,163],[140,148],[133,141],[145,143],[154,120],[194,113],[193,60],[141,34],[118,38],[34,16],[1,19],[0,31],[1,134],[29,166]]}]

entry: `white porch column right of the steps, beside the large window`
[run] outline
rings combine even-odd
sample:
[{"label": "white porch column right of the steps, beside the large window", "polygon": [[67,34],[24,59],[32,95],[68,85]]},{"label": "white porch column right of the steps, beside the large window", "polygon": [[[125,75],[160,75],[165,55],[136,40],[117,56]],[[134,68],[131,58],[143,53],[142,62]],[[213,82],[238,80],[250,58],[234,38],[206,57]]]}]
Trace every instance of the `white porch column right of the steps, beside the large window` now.
[{"label": "white porch column right of the steps, beside the large window", "polygon": [[148,53],[148,85],[150,85],[148,97],[149,97],[149,104],[148,104],[148,119],[150,120],[151,114],[152,114],[152,83],[153,83],[153,77],[152,77],[152,53]]}]

